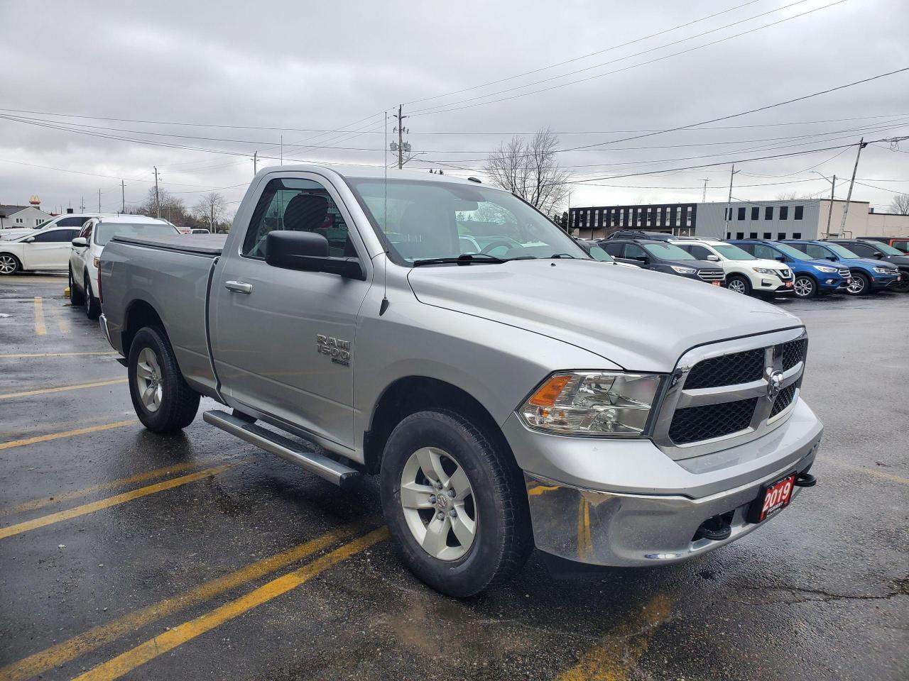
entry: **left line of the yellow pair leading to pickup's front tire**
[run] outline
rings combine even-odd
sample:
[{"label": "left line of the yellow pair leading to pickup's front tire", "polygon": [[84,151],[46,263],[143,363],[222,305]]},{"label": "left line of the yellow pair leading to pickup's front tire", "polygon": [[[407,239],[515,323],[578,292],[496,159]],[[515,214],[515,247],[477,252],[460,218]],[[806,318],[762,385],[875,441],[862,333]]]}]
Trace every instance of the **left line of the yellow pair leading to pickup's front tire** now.
[{"label": "left line of the yellow pair leading to pickup's front tire", "polygon": [[257,560],[245,568],[200,584],[185,593],[165,598],[151,606],[143,607],[124,617],[119,617],[112,622],[93,627],[84,634],[79,634],[56,646],[51,646],[39,653],[35,653],[35,655],[25,657],[18,662],[0,668],[0,679],[4,679],[4,681],[25,681],[25,679],[32,676],[44,674],[125,634],[145,627],[162,617],[168,617],[185,610],[187,607],[203,603],[210,598],[244,585],[253,579],[264,577],[276,570],[285,568],[297,560],[311,556],[317,551],[328,548],[335,542],[352,537],[364,529],[365,526],[360,522],[335,529],[322,537],[310,539],[299,546],[289,548],[274,556]]}]

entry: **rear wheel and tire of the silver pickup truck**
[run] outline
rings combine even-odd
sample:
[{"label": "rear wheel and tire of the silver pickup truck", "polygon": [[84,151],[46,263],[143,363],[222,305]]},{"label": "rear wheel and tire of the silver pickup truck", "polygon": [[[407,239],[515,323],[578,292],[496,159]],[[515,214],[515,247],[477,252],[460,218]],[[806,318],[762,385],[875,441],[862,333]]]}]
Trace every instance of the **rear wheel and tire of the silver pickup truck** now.
[{"label": "rear wheel and tire of the silver pickup truck", "polygon": [[[199,410],[199,393],[186,384],[162,329],[146,326],[135,334],[127,368],[129,396],[145,428],[166,433],[193,422]],[[146,402],[143,392],[149,389],[154,392],[147,394]]]}]

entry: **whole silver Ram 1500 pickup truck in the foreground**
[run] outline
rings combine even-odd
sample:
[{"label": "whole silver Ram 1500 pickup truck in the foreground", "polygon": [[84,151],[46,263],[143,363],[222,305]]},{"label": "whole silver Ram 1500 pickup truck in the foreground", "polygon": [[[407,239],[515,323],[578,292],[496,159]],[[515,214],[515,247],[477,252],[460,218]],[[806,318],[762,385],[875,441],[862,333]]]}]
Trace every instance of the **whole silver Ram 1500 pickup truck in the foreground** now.
[{"label": "whole silver Ram 1500 pickup truck in the foreground", "polygon": [[116,237],[99,277],[146,428],[205,395],[229,408],[206,422],[339,486],[377,474],[400,556],[447,594],[534,545],[692,558],[815,482],[798,319],[597,262],[473,178],[269,168],[226,240]]}]

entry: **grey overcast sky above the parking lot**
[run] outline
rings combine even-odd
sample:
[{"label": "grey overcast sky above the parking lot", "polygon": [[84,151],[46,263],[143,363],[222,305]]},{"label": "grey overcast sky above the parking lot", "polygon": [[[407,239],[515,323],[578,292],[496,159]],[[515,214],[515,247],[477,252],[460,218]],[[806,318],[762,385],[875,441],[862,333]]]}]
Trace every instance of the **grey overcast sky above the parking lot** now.
[{"label": "grey overcast sky above the parking lot", "polygon": [[[559,154],[573,205],[700,201],[704,178],[725,201],[733,160],[909,134],[904,72],[617,142],[909,66],[905,0],[5,0],[0,25],[0,114],[29,119],[0,118],[0,203],[38,194],[45,210],[95,210],[100,189],[116,211],[121,178],[140,202],[155,165],[188,205],[219,188],[235,208],[253,152],[278,163],[282,136],[285,159],[379,165],[401,103],[422,152],[408,168],[480,174],[498,143],[544,126],[563,149],[599,144]],[[909,192],[909,142],[885,146],[864,150],[853,194],[878,208]],[[737,163],[734,197],[825,194],[811,171],[848,178],[854,153]],[[676,170],[705,163],[723,164]]]}]

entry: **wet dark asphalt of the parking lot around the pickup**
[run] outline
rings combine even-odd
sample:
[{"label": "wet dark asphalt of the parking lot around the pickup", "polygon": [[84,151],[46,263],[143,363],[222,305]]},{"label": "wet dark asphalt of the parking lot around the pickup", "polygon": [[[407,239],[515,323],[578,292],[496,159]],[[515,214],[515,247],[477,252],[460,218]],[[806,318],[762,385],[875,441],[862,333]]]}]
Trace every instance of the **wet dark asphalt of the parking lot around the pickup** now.
[{"label": "wet dark asphalt of the parking lot around the pickup", "polygon": [[819,484],[766,527],[583,581],[534,555],[454,600],[351,543],[373,481],[343,493],[202,410],[142,429],[113,354],[58,354],[110,350],[64,287],[0,280],[0,679],[909,677],[909,295],[775,302],[826,431]]}]

